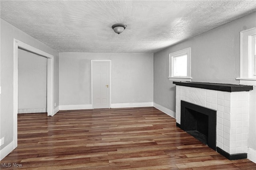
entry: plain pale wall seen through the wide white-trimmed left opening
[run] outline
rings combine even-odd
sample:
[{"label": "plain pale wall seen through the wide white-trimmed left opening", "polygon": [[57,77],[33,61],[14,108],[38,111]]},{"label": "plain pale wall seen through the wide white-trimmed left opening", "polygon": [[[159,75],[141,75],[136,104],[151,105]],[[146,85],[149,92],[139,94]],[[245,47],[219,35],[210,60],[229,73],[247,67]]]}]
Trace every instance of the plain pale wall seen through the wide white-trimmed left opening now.
[{"label": "plain pale wall seen through the wide white-trimmed left opening", "polygon": [[18,49],[18,113],[46,112],[47,59]]}]

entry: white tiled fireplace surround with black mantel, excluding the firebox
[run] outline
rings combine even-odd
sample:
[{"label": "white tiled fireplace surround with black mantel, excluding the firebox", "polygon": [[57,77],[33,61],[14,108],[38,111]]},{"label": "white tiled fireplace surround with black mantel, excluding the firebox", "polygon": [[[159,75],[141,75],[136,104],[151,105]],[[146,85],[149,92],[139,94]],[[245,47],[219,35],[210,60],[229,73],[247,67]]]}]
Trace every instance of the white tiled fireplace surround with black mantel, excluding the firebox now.
[{"label": "white tiled fireplace surround with black mantel, excluding the firebox", "polygon": [[[240,90],[237,89],[239,85],[232,85],[235,86],[233,88],[224,86],[226,90],[216,86],[213,88],[215,90],[209,90],[210,86],[206,86],[208,89],[204,89],[202,86],[207,83],[198,83],[199,88],[196,87],[196,82],[173,83],[176,84],[176,122],[178,124],[181,123],[181,100],[214,109],[217,111],[217,151],[219,152],[219,148],[229,155],[247,153],[248,91],[252,90],[252,86],[244,86],[245,88],[241,87]],[[188,83],[192,83],[192,87],[187,85]]]}]

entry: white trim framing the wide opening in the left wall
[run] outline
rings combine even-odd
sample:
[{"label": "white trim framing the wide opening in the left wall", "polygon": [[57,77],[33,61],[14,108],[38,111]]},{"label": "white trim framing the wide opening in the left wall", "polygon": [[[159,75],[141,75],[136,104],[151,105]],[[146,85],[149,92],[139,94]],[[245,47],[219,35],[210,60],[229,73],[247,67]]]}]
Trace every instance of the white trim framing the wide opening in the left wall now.
[{"label": "white trim framing the wide opening in the left wall", "polygon": [[54,56],[36,49],[28,44],[14,39],[14,148],[18,146],[18,49],[24,49],[31,53],[47,58],[47,114],[53,116],[53,61]]}]

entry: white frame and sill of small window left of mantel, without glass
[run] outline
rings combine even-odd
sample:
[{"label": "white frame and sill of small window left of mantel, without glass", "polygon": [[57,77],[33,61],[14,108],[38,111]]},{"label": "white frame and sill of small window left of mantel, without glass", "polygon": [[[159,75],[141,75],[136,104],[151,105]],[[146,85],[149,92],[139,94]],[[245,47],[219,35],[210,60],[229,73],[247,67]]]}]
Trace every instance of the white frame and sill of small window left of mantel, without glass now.
[{"label": "white frame and sill of small window left of mantel, without glass", "polygon": [[[187,55],[187,76],[174,76],[173,75],[173,59],[177,56]],[[189,81],[191,82],[191,69],[190,69],[190,60],[191,60],[191,48],[183,49],[169,54],[169,80],[174,81]]]}]

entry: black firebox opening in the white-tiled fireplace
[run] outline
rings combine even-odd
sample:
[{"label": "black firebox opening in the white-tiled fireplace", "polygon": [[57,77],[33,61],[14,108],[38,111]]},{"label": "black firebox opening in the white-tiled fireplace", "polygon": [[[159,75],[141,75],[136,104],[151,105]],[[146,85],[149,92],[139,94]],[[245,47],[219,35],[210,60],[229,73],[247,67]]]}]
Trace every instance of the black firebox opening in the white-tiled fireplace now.
[{"label": "black firebox opening in the white-tiled fireplace", "polygon": [[216,150],[216,110],[181,101],[179,127]]}]

